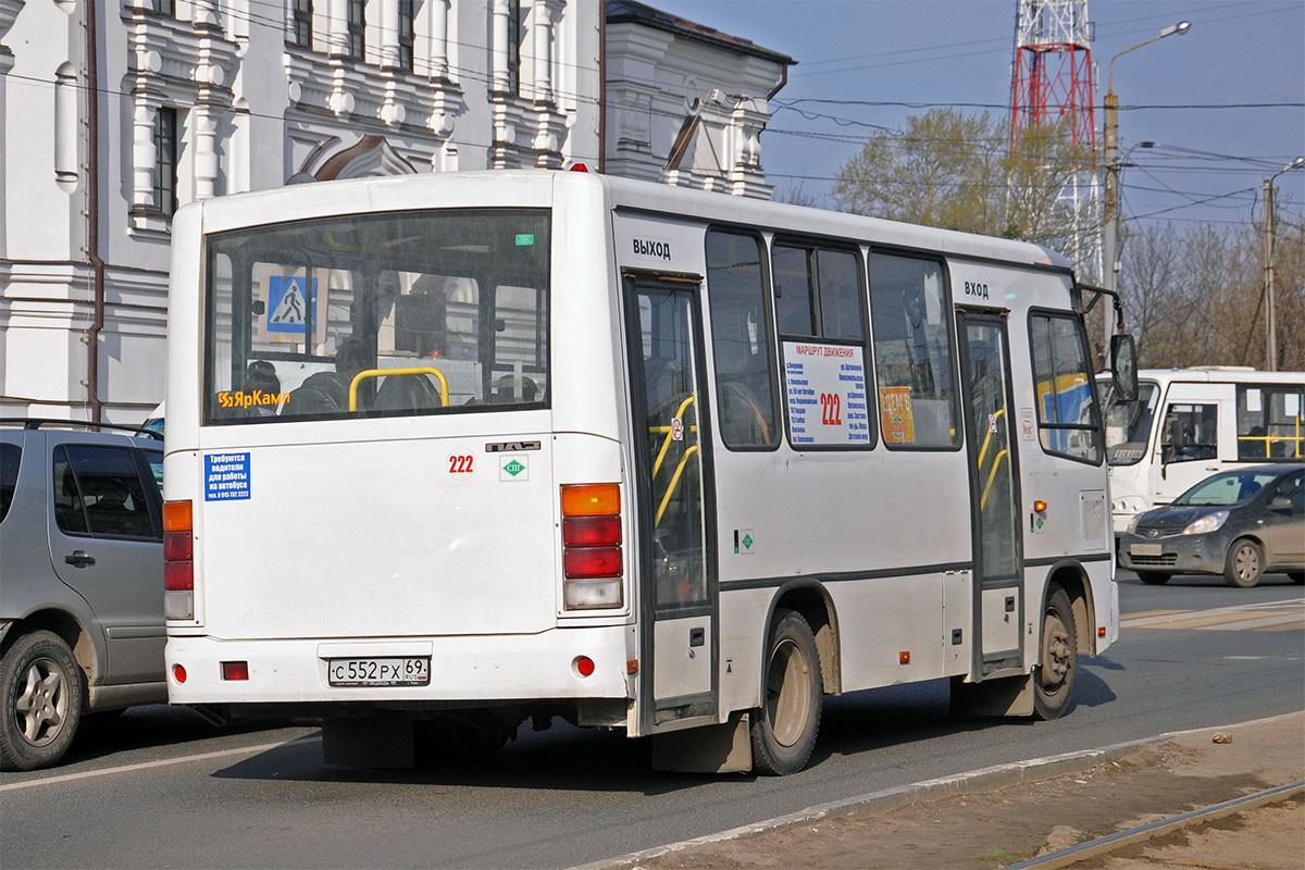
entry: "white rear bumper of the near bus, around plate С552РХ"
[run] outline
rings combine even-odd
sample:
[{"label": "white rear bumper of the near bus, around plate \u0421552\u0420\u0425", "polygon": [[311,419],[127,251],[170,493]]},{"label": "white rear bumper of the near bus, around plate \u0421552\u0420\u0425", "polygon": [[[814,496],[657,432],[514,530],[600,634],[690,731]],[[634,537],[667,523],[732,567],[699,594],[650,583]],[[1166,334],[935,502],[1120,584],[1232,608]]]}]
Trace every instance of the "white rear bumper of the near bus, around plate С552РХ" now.
[{"label": "white rear bumper of the near bus, around plate \u0421552\u0420\u0425", "polygon": [[[531,635],[223,640],[174,635],[167,642],[168,700],[192,706],[322,704],[412,708],[510,700],[630,699],[636,653],[629,626],[552,629]],[[583,676],[581,656],[592,663]],[[429,659],[425,685],[338,686],[335,661]],[[244,663],[248,678],[226,663]],[[179,668],[181,670],[179,670]],[[183,680],[184,673],[184,680]],[[239,676],[239,674],[235,674]]]}]

